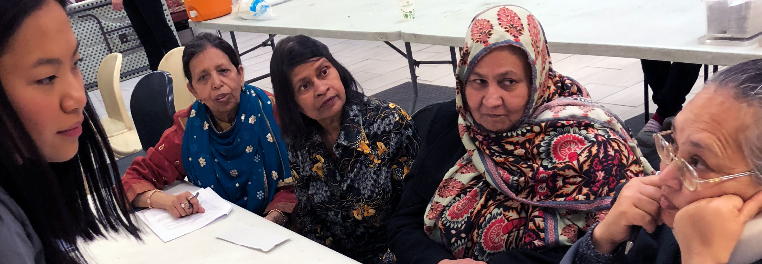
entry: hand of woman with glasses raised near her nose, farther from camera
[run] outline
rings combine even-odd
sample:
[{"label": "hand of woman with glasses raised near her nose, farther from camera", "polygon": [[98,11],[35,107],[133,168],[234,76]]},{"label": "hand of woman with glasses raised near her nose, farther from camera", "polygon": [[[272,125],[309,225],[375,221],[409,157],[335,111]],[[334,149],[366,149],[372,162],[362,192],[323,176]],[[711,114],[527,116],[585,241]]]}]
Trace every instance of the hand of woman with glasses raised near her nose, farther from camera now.
[{"label": "hand of woman with glasses raised near her nose, farther from camera", "polygon": [[610,254],[629,237],[630,226],[639,225],[648,233],[661,224],[661,184],[656,175],[635,177],[622,188],[610,212],[595,227],[593,245]]}]

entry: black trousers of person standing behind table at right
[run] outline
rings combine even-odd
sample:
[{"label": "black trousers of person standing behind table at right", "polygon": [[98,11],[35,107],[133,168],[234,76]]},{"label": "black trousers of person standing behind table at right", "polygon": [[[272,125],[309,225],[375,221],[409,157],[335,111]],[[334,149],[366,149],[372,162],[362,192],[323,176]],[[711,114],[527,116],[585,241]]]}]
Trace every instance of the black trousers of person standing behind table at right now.
[{"label": "black trousers of person standing behind table at right", "polygon": [[699,78],[700,64],[641,59],[643,78],[653,91],[656,113],[662,118],[683,110],[685,97]]}]

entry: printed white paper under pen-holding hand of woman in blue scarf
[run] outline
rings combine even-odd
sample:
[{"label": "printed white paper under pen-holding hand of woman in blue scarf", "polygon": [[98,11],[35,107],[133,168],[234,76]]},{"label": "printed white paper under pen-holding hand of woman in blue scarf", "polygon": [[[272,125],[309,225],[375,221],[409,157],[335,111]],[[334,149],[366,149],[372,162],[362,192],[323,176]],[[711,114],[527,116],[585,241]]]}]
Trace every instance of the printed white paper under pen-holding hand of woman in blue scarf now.
[{"label": "printed white paper under pen-holding hand of woman in blue scarf", "polygon": [[232,211],[233,206],[212,189],[198,189],[191,193],[195,192],[199,192],[198,202],[204,209],[203,213],[175,218],[165,209],[152,208],[136,212],[136,214],[140,220],[151,227],[151,231],[158,238],[168,242],[221,220]]}]

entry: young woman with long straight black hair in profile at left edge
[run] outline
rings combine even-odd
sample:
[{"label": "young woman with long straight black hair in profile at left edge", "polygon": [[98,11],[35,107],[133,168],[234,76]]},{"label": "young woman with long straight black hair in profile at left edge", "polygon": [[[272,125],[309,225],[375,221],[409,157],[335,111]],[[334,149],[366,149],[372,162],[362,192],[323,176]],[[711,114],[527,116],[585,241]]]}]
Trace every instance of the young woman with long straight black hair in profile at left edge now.
[{"label": "young woman with long straight black hair in profile at left edge", "polygon": [[65,6],[0,0],[2,263],[85,263],[80,239],[139,238]]}]

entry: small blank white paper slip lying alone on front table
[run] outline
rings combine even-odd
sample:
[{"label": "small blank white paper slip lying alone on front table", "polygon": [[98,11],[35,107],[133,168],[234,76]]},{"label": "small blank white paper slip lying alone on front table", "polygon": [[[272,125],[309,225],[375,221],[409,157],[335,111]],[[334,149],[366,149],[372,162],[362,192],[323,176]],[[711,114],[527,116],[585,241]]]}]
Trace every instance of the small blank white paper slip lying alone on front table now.
[{"label": "small blank white paper slip lying alone on front table", "polygon": [[265,227],[255,228],[244,224],[233,224],[230,229],[218,234],[217,238],[264,252],[269,252],[290,239],[290,237],[266,231]]}]

